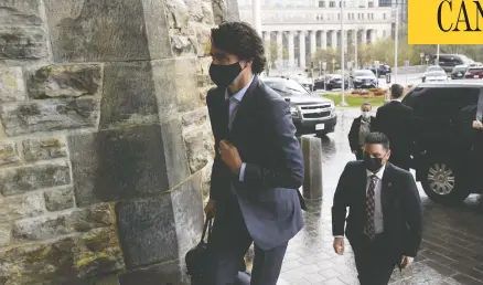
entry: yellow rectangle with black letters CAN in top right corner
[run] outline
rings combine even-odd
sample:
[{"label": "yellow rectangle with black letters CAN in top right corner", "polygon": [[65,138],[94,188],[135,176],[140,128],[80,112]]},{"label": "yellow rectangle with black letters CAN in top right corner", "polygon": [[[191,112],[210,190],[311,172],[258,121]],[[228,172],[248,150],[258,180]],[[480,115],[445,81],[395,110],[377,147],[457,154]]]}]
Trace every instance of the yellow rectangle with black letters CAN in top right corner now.
[{"label": "yellow rectangle with black letters CAN in top right corner", "polygon": [[408,0],[409,44],[483,44],[483,0]]}]

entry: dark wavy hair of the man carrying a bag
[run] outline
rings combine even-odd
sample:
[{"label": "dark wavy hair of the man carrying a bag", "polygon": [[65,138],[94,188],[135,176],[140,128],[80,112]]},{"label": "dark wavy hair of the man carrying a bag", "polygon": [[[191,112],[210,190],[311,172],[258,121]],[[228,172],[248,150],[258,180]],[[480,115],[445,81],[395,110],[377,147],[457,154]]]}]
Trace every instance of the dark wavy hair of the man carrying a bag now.
[{"label": "dark wavy hair of the man carrying a bag", "polygon": [[212,29],[212,44],[240,60],[251,61],[251,71],[260,74],[265,70],[264,42],[251,25],[244,22],[223,22]]}]

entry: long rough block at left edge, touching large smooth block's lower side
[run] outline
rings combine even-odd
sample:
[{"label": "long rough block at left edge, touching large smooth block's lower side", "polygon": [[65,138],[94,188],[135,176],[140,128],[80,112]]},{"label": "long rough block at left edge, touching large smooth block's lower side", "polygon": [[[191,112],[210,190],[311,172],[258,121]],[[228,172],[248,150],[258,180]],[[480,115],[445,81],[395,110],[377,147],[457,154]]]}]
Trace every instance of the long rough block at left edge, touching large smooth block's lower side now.
[{"label": "long rough block at left edge, touching large smooth block's lower side", "polygon": [[3,169],[0,171],[0,192],[3,196],[71,183],[66,161]]}]

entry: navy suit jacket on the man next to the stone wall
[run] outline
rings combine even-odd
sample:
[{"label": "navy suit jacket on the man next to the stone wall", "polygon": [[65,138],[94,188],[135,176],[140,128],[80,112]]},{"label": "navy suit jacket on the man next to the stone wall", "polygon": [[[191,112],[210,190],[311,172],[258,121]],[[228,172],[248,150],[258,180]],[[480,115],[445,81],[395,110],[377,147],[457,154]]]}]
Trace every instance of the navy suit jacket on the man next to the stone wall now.
[{"label": "navy suit jacket on the man next to the stone wall", "polygon": [[[257,76],[239,103],[230,130],[225,89],[211,89],[206,102],[216,150],[210,198],[219,209],[233,183],[255,243],[264,250],[286,243],[303,228],[304,208],[298,191],[303,183],[303,156],[290,106]],[[235,145],[246,163],[244,181],[221,159],[222,139]]]}]

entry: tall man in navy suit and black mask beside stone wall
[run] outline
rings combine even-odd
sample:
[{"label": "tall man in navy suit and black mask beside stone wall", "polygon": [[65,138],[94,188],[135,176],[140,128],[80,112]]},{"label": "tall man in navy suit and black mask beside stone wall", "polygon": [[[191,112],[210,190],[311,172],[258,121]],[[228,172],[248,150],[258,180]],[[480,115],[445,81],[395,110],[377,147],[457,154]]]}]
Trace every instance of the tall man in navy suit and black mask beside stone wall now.
[{"label": "tall man in navy suit and black mask beside stone wall", "polygon": [[288,242],[302,228],[303,158],[290,107],[258,74],[264,44],[246,23],[212,30],[210,75],[217,85],[206,102],[215,137],[207,214],[210,285],[233,284],[255,243],[253,285],[275,285]]}]

